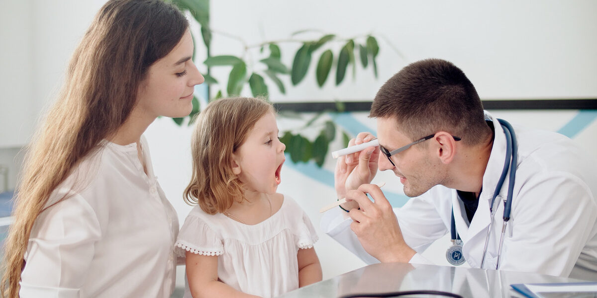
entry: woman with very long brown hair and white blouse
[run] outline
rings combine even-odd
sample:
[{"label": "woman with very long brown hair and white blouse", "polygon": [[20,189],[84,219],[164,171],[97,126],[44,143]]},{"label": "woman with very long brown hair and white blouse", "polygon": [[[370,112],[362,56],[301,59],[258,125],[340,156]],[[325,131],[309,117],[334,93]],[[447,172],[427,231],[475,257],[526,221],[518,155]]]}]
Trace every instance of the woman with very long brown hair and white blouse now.
[{"label": "woman with very long brown hair and white blouse", "polygon": [[184,15],[111,0],[73,54],[27,153],[5,247],[5,297],[170,297],[179,224],[142,134],[192,110],[204,81]]}]

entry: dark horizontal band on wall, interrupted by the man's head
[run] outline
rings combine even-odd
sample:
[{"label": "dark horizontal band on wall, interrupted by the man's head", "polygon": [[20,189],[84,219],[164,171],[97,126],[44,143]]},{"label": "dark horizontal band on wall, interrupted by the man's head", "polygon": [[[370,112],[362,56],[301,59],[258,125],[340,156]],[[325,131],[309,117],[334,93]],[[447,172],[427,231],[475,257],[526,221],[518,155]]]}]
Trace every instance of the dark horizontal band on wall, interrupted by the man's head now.
[{"label": "dark horizontal band on wall, interrupted by the man's head", "polygon": [[[586,100],[484,100],[485,110],[597,110],[597,99]],[[275,103],[278,111],[369,111],[371,101]],[[340,108],[338,108],[340,106]],[[343,106],[343,110],[341,108]]]}]

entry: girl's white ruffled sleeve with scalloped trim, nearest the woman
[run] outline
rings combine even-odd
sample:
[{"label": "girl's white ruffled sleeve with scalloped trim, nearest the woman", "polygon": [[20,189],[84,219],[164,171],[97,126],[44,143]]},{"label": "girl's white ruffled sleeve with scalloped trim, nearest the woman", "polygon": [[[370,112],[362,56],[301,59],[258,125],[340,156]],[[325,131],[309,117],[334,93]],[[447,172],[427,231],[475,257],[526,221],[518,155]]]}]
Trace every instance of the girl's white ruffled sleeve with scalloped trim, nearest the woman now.
[{"label": "girl's white ruffled sleeve with scalloped trim, nearest the woman", "polygon": [[224,253],[223,240],[201,218],[189,214],[174,243],[177,256],[184,257],[186,252],[204,256],[220,256]]}]

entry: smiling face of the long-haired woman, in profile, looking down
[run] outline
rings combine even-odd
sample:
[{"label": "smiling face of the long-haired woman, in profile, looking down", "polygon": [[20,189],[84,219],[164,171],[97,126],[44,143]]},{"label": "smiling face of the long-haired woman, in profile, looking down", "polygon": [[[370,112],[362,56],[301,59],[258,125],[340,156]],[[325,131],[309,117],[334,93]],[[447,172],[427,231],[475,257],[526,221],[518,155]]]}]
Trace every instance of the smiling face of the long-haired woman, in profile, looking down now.
[{"label": "smiling face of the long-haired woman, in profile, looking down", "polygon": [[191,60],[193,39],[186,30],[179,44],[147,70],[139,84],[136,109],[151,121],[158,116],[184,117],[193,109],[195,85],[204,78]]}]

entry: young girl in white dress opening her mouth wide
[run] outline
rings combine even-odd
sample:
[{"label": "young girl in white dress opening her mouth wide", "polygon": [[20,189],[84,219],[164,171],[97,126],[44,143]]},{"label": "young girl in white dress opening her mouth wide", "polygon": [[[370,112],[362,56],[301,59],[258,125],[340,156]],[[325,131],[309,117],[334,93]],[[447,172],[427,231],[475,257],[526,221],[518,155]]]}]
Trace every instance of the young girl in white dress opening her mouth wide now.
[{"label": "young girl in white dress opening her mouth wide", "polygon": [[217,100],[199,114],[184,191],[198,206],[176,241],[186,254],[184,297],[274,297],[321,281],[313,225],[276,193],[284,149],[264,100]]}]

